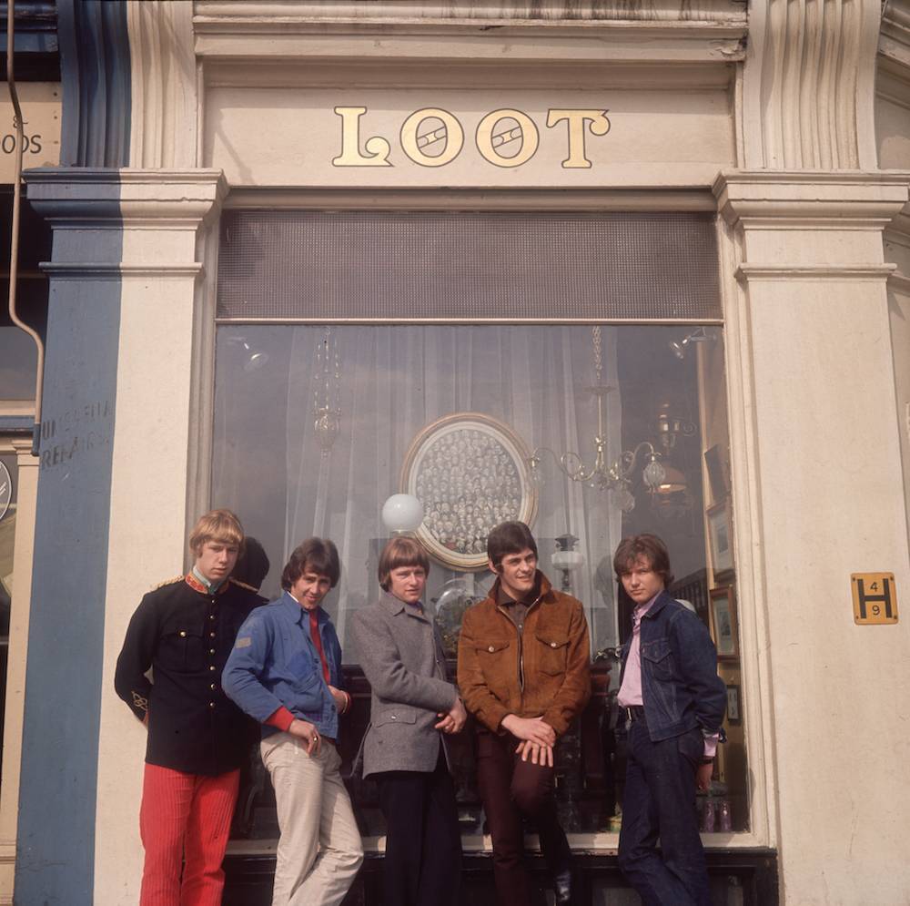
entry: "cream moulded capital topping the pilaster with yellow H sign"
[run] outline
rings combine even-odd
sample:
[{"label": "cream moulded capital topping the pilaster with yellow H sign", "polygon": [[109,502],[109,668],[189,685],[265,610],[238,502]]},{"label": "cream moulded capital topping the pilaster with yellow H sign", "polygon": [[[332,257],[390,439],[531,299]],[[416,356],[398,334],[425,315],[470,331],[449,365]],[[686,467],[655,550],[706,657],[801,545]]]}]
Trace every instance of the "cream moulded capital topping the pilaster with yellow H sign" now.
[{"label": "cream moulded capital topping the pilaster with yellow H sign", "polygon": [[724,171],[712,187],[732,226],[884,229],[904,208],[910,174],[897,170]]}]

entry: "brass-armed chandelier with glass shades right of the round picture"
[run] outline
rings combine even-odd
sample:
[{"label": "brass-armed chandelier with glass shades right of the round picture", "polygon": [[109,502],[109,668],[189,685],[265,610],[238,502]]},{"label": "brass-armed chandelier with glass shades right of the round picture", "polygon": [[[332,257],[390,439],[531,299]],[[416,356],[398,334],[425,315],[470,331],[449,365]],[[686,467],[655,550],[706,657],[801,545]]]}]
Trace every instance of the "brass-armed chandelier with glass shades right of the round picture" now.
[{"label": "brass-armed chandelier with glass shades right of the round picture", "polygon": [[670,451],[675,446],[676,438],[680,434],[686,436],[695,433],[692,422],[686,422],[674,416],[670,411],[670,403],[662,403],[657,417],[657,434],[659,447],[651,441],[642,441],[632,450],[623,450],[615,459],[610,460],[607,455],[606,431],[603,423],[604,399],[613,388],[604,384],[602,334],[600,325],[591,327],[591,345],[594,354],[594,377],[592,387],[585,388],[597,400],[597,433],[594,435],[594,459],[585,463],[581,454],[567,450],[561,455],[554,453],[549,447],[536,447],[528,460],[528,477],[531,484],[540,485],[543,482],[541,474],[542,454],[550,453],[561,472],[571,481],[584,484],[596,491],[610,491],[615,504],[623,513],[631,513],[635,508],[635,496],[632,487],[638,470],[642,470],[642,482],[655,503],[660,503],[659,495],[668,499],[671,495],[679,495],[686,491],[685,476],[672,465],[666,462]]}]

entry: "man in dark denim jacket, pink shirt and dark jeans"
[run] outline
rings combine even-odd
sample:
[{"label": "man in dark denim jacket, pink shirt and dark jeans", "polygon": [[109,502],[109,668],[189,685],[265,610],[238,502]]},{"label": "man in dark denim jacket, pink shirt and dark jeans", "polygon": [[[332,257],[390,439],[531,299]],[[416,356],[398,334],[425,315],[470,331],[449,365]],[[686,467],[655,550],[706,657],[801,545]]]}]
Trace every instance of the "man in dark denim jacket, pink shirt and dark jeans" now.
[{"label": "man in dark denim jacket, pink shirt and dark jeans", "polygon": [[664,590],[660,538],[624,538],[613,569],[635,606],[617,698],[630,721],[620,868],[646,906],[711,906],[695,789],[711,782],[726,706],[717,654],[703,622]]}]

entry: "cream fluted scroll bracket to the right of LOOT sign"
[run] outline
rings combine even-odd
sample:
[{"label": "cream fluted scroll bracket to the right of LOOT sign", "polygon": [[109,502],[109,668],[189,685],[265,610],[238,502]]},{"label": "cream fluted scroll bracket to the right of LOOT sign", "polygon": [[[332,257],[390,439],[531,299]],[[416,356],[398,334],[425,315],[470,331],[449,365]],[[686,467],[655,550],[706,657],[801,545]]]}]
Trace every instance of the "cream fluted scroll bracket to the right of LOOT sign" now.
[{"label": "cream fluted scroll bracket to the right of LOOT sign", "polygon": [[875,168],[880,15],[880,0],[751,5],[743,76],[747,168]]}]

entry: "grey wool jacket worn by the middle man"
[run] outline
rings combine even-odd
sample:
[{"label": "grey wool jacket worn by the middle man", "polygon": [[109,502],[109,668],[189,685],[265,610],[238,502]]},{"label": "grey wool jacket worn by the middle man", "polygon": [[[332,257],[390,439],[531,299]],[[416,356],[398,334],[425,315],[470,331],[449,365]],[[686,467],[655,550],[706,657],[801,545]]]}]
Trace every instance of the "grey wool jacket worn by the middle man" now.
[{"label": "grey wool jacket worn by the middle man", "polygon": [[[440,757],[434,728],[458,697],[446,679],[439,632],[427,616],[383,593],[355,613],[351,634],[369,680],[369,727],[363,739],[363,776],[384,770],[432,771]],[[446,758],[448,760],[448,751]]]}]

